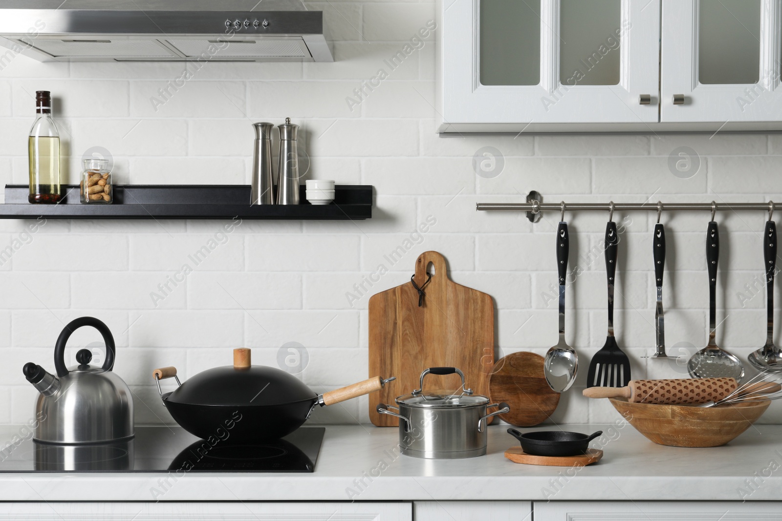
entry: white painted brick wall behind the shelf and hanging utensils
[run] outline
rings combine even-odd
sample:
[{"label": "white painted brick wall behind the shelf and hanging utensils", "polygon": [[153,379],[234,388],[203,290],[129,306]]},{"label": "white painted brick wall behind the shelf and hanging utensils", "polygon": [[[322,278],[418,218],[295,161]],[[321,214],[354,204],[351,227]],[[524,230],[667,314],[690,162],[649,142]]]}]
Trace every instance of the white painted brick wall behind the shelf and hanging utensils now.
[{"label": "white painted brick wall behind the shelf and hanging utensils", "polygon": [[[49,221],[39,227],[0,265],[0,347],[6,360],[0,423],[27,420],[34,390],[23,379],[23,363],[34,360],[52,370],[59,331],[83,315],[97,316],[113,330],[117,373],[135,392],[142,423],[171,421],[149,376],[153,367],[178,366],[186,378],[230,363],[235,347],[251,347],[256,363],[275,365],[282,344],[300,342],[310,355],[300,375],[307,384],[325,390],[361,380],[368,366],[369,295],[403,284],[417,255],[428,249],[447,257],[455,281],[493,295],[501,352],[543,354],[556,341],[556,305],[544,294],[556,283],[558,216],[547,214],[533,225],[519,213],[475,212],[476,202],[521,201],[532,189],[547,202],[782,202],[777,135],[437,137],[435,42],[430,38],[395,70],[384,62],[435,16],[435,4],[307,5],[325,11],[336,62],[208,63],[157,110],[150,98],[181,77],[185,64],[39,63],[20,56],[0,70],[2,184],[27,182],[33,95],[48,89],[63,134],[66,181],[77,179],[82,153],[99,145],[113,154],[118,182],[249,183],[251,123],[279,124],[287,116],[301,125],[309,177],[372,184],[376,194],[375,217],[368,221],[246,221],[197,265],[188,255],[215,238],[222,223]],[[379,69],[389,77],[351,109],[346,98],[354,98],[353,89]],[[472,156],[484,146],[504,155],[504,170],[493,179],[477,176],[472,167]],[[680,146],[700,157],[701,168],[690,179],[669,170],[669,154]],[[436,223],[389,265],[383,255],[429,216]],[[605,218],[567,216],[570,267],[583,270],[568,291],[568,338],[583,373],[552,418],[557,423],[616,418],[607,403],[580,396],[590,356],[605,337],[604,260],[590,260]],[[633,376],[683,376],[682,364],[640,358],[654,351],[655,216],[617,212],[615,219],[626,219],[619,249],[619,344],[632,359]],[[765,216],[721,212],[718,220],[718,320],[724,322],[717,340],[745,359],[765,339],[765,288],[745,288],[756,277],[762,281]],[[671,353],[691,353],[706,343],[706,221],[705,213],[664,216]],[[26,225],[0,222],[0,246],[20,238]],[[346,292],[355,292],[354,285],[380,263],[389,273],[349,302]],[[192,269],[186,277],[185,264]],[[776,318],[782,330],[779,312]],[[95,332],[74,334],[69,356],[98,340]],[[326,408],[314,421],[367,421],[367,405],[363,398]],[[782,422],[782,408],[774,405],[762,421]]]}]

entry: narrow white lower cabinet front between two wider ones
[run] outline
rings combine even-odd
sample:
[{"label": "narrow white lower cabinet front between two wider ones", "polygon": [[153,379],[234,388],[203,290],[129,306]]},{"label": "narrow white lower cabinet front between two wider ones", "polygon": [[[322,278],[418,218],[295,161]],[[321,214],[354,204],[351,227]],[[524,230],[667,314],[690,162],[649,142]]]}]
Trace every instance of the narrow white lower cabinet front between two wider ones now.
[{"label": "narrow white lower cabinet front between two wider ones", "polygon": [[532,501],[415,501],[415,521],[531,521]]}]

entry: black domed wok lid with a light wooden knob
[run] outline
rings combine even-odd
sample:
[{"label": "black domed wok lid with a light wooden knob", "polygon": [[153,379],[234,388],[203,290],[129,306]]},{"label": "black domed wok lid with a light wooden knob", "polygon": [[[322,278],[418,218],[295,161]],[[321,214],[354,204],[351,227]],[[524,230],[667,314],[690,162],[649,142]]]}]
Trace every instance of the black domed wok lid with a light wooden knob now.
[{"label": "black domed wok lid with a light wooden knob", "polygon": [[[241,359],[237,351],[242,351]],[[249,349],[236,349],[234,360],[234,366],[206,369],[185,380],[166,399],[189,405],[247,406],[285,405],[317,398],[310,387],[282,369],[249,365]]]}]

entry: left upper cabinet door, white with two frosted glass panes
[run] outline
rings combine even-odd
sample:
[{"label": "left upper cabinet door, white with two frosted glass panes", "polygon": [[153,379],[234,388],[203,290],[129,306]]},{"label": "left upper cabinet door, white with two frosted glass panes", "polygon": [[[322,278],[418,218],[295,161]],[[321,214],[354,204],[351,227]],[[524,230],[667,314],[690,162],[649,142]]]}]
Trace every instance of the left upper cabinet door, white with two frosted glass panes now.
[{"label": "left upper cabinet door, white with two frosted glass panes", "polygon": [[443,0],[439,131],[656,123],[660,1]]}]

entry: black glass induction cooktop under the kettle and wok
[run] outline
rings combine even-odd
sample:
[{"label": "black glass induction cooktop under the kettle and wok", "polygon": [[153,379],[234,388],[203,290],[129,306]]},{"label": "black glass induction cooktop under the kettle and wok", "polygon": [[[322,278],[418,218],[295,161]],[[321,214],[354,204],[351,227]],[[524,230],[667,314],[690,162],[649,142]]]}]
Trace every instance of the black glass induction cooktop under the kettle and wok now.
[{"label": "black glass induction cooktop under the kettle and wok", "polygon": [[[8,433],[5,430],[9,430]],[[18,429],[17,429],[18,430]],[[199,440],[180,427],[136,427],[129,441],[54,445],[19,436],[10,427],[0,450],[5,472],[314,472],[325,427],[303,427],[259,444]]]}]

